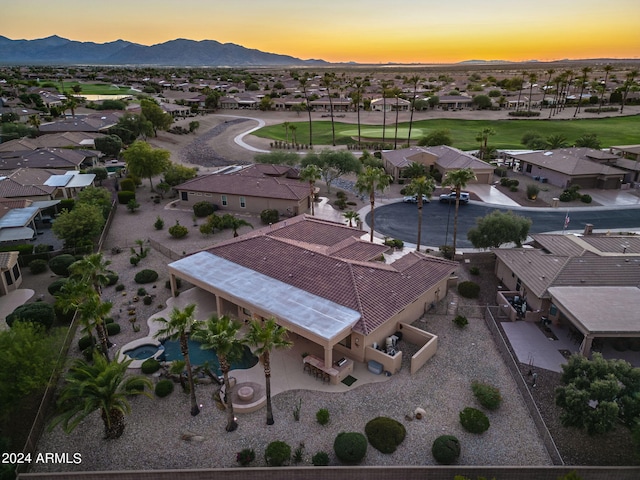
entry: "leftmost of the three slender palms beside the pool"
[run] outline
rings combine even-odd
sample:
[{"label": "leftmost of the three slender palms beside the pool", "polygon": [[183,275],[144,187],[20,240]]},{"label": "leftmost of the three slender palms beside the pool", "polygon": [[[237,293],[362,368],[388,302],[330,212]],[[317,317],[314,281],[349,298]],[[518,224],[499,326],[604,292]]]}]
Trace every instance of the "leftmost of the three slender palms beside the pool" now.
[{"label": "leftmost of the three slender palms beside the pool", "polygon": [[193,381],[193,370],[191,367],[191,359],[189,358],[189,337],[195,336],[198,332],[198,322],[194,316],[196,306],[191,303],[180,310],[173,307],[169,320],[158,318],[157,321],[162,324],[160,330],[156,332],[154,338],[179,340],[180,352],[185,361],[187,369],[187,379],[189,380],[189,395],[191,397],[191,415],[196,416],[200,413],[200,407],[196,401],[196,388]]}]

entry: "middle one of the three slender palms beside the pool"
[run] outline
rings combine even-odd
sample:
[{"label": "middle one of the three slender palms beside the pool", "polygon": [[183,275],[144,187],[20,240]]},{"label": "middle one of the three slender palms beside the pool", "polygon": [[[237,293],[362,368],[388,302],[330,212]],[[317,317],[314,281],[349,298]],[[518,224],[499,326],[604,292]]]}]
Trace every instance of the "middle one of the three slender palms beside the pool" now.
[{"label": "middle one of the three slender palms beside the pool", "polygon": [[238,422],[233,414],[233,401],[231,384],[229,383],[229,370],[231,362],[242,356],[244,341],[237,337],[240,330],[240,322],[223,315],[212,316],[204,327],[194,334],[194,339],[202,343],[202,349],[213,350],[218,356],[220,370],[224,378],[225,397],[227,405],[227,432],[233,432],[238,428]]}]

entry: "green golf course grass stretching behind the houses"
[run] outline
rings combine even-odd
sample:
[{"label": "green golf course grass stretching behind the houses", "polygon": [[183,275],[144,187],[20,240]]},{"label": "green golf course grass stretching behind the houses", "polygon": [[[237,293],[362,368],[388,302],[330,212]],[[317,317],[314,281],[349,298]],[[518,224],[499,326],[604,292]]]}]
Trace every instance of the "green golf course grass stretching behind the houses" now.
[{"label": "green golf course grass stretching behind the houses", "polygon": [[[544,113],[544,112],[543,112]],[[496,134],[489,138],[489,145],[500,149],[524,148],[520,140],[527,132],[537,132],[543,138],[550,135],[563,135],[569,144],[586,134],[595,133],[603,147],[611,145],[629,145],[638,143],[637,116],[594,118],[584,120],[420,120],[413,122],[411,138],[418,140],[434,130],[449,130],[453,139],[453,146],[461,150],[473,150],[479,147],[476,136],[483,128],[492,128]],[[298,143],[309,143],[309,123],[289,122],[296,126]],[[313,122],[314,145],[331,145],[331,122]],[[356,143],[358,138],[357,125],[335,122],[336,144],[346,145]],[[393,143],[395,125],[387,125],[385,141]],[[398,138],[406,140],[409,132],[408,123],[398,125]],[[372,138],[382,139],[382,126],[362,125],[363,141]],[[272,140],[285,140],[285,130],[282,124],[271,125],[254,132],[254,135]],[[291,138],[291,135],[289,135]],[[364,140],[367,138],[368,140]]]}]

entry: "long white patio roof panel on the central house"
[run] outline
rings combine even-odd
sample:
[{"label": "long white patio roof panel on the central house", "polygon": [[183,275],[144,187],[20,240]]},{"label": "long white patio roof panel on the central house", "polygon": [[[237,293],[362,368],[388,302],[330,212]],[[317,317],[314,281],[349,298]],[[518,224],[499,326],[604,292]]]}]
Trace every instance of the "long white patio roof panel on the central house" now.
[{"label": "long white patio roof panel on the central house", "polygon": [[335,339],[360,319],[360,312],[208,252],[170,263],[169,269],[241,298],[326,340]]}]

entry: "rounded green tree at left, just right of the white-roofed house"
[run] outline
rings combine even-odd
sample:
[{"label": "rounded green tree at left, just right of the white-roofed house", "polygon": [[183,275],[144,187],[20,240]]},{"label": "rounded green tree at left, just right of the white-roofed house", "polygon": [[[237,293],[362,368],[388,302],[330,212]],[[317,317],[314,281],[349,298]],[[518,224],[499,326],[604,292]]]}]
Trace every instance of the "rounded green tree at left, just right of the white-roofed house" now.
[{"label": "rounded green tree at left, just right of the white-roofed house", "polygon": [[66,248],[77,248],[93,245],[93,239],[100,235],[104,224],[99,207],[79,203],[71,211],[63,210],[51,229]]}]

